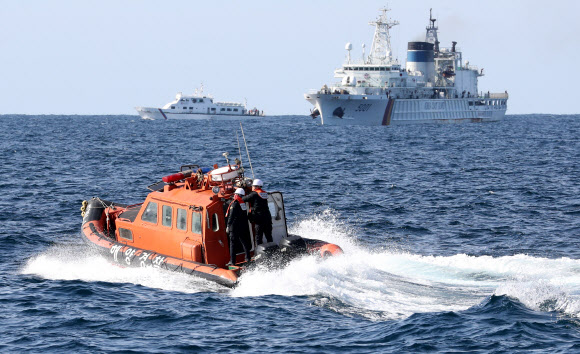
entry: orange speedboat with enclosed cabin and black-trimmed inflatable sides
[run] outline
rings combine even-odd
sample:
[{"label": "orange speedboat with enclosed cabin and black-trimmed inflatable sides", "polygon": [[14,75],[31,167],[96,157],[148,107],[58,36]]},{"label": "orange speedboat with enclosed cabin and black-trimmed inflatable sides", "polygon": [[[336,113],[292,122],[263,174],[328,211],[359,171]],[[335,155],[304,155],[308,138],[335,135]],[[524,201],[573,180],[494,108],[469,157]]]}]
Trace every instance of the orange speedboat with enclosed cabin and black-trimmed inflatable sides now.
[{"label": "orange speedboat with enclosed cabin and black-trimmed inflatable sides", "polygon": [[282,193],[270,192],[273,242],[257,245],[249,223],[252,260],[244,263],[240,244],[235,248],[236,264],[226,266],[230,254],[225,213],[235,188],[249,191],[250,185],[243,168],[229,161],[204,169],[181,166],[178,173],[150,185],[143,203],[126,205],[96,197],[84,201],[82,237],[121,266],[179,271],[227,287],[234,287],[256,264],[284,266],[303,255],[342,254],[335,244],[289,235]]}]

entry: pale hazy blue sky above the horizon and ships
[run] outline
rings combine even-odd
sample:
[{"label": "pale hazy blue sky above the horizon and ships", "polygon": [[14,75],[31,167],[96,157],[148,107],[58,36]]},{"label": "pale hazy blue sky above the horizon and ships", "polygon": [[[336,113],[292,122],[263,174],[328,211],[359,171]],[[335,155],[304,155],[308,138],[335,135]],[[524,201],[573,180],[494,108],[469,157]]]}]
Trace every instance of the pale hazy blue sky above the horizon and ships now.
[{"label": "pale hazy blue sky above the horizon and ships", "polygon": [[[267,114],[307,114],[346,42],[370,50],[386,1],[0,0],[0,114],[136,114],[205,92]],[[393,0],[395,56],[424,38],[484,68],[480,91],[510,93],[508,114],[580,113],[580,2]]]}]

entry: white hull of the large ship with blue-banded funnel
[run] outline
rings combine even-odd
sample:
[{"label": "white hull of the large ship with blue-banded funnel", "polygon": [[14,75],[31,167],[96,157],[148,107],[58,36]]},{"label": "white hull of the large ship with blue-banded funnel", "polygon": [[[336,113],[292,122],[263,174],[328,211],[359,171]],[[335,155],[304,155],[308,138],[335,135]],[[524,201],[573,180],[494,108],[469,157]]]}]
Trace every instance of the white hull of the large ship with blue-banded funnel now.
[{"label": "white hull of the large ship with blue-banded funnel", "polygon": [[393,99],[347,94],[306,94],[305,98],[318,109],[323,125],[495,122],[507,109],[507,99],[491,98]]}]

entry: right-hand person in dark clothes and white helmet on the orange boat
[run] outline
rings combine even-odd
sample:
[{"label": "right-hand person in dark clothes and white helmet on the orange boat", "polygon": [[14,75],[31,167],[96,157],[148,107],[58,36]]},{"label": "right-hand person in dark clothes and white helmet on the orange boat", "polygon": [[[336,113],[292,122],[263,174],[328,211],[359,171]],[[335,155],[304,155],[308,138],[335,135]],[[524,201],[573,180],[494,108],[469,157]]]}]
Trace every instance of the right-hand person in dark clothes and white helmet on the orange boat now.
[{"label": "right-hand person in dark clothes and white helmet on the orange boat", "polygon": [[262,190],[262,180],[252,182],[252,192],[242,199],[252,206],[252,222],[256,226],[256,244],[262,243],[262,236],[267,242],[272,242],[272,215],[268,208],[268,193]]}]

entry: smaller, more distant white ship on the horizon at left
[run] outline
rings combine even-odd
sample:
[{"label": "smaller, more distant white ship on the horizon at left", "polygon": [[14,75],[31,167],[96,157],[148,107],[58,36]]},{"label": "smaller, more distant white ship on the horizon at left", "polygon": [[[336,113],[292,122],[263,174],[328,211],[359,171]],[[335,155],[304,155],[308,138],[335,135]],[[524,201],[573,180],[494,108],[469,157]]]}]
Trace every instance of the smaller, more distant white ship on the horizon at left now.
[{"label": "smaller, more distant white ship on the horizon at left", "polygon": [[237,119],[262,117],[264,111],[247,109],[244,103],[217,102],[203,93],[203,85],[193,95],[179,92],[175,99],[162,108],[135,107],[143,119]]}]

